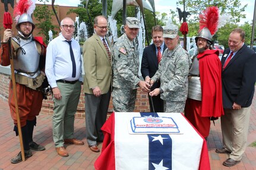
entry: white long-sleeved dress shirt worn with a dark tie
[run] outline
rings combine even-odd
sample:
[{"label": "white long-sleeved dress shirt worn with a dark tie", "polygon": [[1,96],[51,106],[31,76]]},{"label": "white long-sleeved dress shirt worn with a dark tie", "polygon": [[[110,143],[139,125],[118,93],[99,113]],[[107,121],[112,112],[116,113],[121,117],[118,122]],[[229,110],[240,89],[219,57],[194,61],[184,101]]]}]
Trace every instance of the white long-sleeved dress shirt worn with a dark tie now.
[{"label": "white long-sleeved dress shirt worn with a dark tie", "polygon": [[72,61],[69,52],[69,44],[60,35],[50,41],[46,50],[45,73],[52,88],[56,87],[59,79],[65,81],[82,81],[82,58],[79,43],[72,40],[71,46],[75,57],[76,75],[72,78]]}]

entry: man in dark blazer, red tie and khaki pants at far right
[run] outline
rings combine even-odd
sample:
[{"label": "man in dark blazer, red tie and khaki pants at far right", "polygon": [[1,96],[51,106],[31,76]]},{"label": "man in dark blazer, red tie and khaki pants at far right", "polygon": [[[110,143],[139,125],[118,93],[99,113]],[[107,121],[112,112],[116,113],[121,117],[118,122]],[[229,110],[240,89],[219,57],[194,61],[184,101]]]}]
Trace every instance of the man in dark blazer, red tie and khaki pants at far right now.
[{"label": "man in dark blazer, red tie and khaki pants at far right", "polygon": [[223,162],[225,166],[239,163],[246,149],[256,79],[256,53],[244,41],[244,30],[235,28],[229,35],[229,48],[222,57],[223,148],[216,152],[229,154]]}]

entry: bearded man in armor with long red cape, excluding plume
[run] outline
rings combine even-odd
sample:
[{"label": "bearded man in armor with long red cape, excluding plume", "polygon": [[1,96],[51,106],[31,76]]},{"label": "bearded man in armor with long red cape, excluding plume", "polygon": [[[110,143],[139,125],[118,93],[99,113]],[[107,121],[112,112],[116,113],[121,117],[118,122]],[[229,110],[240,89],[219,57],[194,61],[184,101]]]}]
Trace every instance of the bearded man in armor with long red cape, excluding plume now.
[{"label": "bearded man in armor with long red cape, excluding plume", "polygon": [[223,115],[222,64],[219,51],[211,48],[212,34],[208,27],[204,27],[195,37],[198,53],[192,58],[189,70],[185,105],[185,117],[205,139],[210,131],[210,120]]}]

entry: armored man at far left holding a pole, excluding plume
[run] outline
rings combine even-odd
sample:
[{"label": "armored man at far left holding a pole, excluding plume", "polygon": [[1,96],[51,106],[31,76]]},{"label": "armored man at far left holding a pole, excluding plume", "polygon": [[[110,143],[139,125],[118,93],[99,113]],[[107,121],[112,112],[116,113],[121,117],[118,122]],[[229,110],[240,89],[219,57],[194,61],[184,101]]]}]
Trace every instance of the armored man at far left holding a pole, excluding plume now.
[{"label": "armored man at far left holding a pole, excluding plume", "polygon": [[[33,142],[33,130],[43,101],[42,84],[45,79],[43,69],[45,68],[46,45],[43,43],[42,37],[32,36],[35,25],[29,14],[20,15],[16,28],[18,34],[15,37],[12,37],[11,29],[4,31],[0,49],[0,64],[2,66],[10,65],[9,48],[11,48],[24,153],[25,158],[29,158],[32,156],[31,149],[45,150],[44,146]],[[8,46],[9,39],[11,39],[11,47]],[[12,81],[10,81],[8,100],[11,117],[15,124],[14,131],[18,135]],[[11,159],[12,163],[21,161],[21,152]]]}]

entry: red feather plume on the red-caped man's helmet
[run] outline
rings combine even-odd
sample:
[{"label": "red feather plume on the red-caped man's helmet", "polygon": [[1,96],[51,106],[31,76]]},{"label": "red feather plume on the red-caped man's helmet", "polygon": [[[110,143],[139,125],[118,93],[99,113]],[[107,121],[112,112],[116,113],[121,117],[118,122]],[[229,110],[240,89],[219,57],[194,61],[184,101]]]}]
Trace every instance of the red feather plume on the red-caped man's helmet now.
[{"label": "red feather plume on the red-caped man's helmet", "polygon": [[211,35],[215,34],[218,30],[217,25],[219,21],[219,9],[218,7],[208,7],[202,14],[199,15],[200,21],[199,30],[202,30],[204,27],[207,27]]}]

